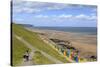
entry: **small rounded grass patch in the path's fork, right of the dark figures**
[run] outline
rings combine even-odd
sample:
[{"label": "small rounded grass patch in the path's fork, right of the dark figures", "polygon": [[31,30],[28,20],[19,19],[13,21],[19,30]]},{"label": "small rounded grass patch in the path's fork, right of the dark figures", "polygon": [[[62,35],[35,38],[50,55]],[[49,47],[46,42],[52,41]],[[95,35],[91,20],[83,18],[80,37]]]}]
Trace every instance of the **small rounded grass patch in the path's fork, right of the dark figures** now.
[{"label": "small rounded grass patch in the path's fork, right of the dark figures", "polygon": [[36,51],[34,53],[33,61],[35,64],[54,64],[53,61],[50,61],[48,58],[43,56],[39,51]]}]

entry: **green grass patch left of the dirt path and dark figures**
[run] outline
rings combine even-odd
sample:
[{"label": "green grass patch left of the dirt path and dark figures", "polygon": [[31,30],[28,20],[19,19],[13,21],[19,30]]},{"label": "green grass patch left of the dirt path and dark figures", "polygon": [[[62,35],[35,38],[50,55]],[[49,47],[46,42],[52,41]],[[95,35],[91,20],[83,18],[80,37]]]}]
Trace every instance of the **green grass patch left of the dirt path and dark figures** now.
[{"label": "green grass patch left of the dirt path and dark figures", "polygon": [[13,66],[19,65],[22,61],[23,54],[28,49],[22,42],[13,36],[12,40],[12,64]]}]

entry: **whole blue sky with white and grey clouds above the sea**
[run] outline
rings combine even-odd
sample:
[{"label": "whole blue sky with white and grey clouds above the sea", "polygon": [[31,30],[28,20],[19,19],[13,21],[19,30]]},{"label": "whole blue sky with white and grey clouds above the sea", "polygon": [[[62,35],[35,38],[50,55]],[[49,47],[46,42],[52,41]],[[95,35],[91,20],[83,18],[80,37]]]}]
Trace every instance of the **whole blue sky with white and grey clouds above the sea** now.
[{"label": "whole blue sky with white and grey clouds above the sea", "polygon": [[14,23],[48,27],[97,27],[97,6],[13,0]]}]

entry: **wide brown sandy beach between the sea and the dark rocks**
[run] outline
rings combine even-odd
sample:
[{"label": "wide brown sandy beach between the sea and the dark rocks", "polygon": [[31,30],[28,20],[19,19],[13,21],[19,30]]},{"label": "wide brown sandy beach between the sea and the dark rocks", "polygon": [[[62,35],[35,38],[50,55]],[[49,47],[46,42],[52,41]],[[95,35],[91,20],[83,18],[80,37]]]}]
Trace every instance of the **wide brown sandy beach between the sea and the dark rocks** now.
[{"label": "wide brown sandy beach between the sea and the dark rocks", "polygon": [[79,33],[63,32],[55,30],[30,29],[30,31],[43,34],[48,39],[60,39],[70,41],[71,45],[80,51],[80,56],[88,57],[97,56],[97,36],[96,35],[79,35]]}]

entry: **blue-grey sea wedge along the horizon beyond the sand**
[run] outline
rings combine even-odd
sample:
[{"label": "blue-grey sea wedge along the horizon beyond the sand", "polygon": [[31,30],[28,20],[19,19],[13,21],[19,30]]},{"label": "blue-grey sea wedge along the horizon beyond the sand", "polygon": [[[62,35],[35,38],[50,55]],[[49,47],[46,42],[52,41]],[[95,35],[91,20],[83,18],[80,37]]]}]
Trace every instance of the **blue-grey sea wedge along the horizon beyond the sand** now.
[{"label": "blue-grey sea wedge along the horizon beyond the sand", "polygon": [[97,35],[97,27],[33,27],[33,28],[88,34],[88,35]]}]

